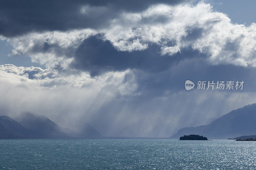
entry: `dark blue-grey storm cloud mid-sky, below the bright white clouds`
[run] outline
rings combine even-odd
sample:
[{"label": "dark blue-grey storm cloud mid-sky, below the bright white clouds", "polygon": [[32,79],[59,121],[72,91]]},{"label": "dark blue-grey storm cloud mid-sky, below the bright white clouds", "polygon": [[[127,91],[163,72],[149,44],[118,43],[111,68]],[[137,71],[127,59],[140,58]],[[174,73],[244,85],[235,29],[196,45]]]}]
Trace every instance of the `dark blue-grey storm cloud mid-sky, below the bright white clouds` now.
[{"label": "dark blue-grey storm cloud mid-sky, below the bright white clouds", "polygon": [[143,51],[117,51],[108,41],[98,36],[85,39],[77,48],[74,68],[90,71],[92,76],[105,71],[124,71],[128,68],[160,72],[170,67],[180,56],[160,54],[160,46],[152,43]]}]

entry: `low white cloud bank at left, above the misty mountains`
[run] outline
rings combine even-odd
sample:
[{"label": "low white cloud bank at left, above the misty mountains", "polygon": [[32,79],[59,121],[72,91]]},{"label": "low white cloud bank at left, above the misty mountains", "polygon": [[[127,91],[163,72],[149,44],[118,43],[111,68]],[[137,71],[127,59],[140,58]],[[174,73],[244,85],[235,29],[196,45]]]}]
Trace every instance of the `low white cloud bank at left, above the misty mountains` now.
[{"label": "low white cloud bank at left, above the misty mountains", "polygon": [[[129,75],[128,81],[124,77]],[[115,95],[132,95],[137,89],[132,70],[123,72],[107,72],[92,78],[85,72],[77,74],[63,74],[56,70],[42,69],[40,67],[17,67],[12,64],[0,65],[0,81],[8,82],[14,86],[41,87],[53,89],[56,86],[76,87],[84,90],[103,89]]]}]

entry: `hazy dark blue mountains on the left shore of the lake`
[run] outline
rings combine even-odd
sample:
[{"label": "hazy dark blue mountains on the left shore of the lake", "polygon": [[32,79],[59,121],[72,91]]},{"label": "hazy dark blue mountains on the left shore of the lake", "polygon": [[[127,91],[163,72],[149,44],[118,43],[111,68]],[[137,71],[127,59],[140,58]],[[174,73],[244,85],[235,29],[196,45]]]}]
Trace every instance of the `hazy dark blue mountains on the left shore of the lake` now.
[{"label": "hazy dark blue mountains on the left shore of the lake", "polygon": [[0,138],[97,138],[100,133],[87,123],[79,122],[76,131],[62,128],[49,118],[31,112],[14,119],[0,116]]}]

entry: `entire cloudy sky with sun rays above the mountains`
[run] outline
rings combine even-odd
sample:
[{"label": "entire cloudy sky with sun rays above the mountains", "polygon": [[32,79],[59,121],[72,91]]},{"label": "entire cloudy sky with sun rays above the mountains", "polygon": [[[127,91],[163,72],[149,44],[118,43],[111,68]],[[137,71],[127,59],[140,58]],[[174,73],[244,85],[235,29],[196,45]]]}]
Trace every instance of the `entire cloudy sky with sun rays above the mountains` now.
[{"label": "entire cloudy sky with sun rays above the mountains", "polygon": [[254,16],[255,1],[2,1],[0,115],[83,120],[102,136],[209,124],[256,103]]}]

